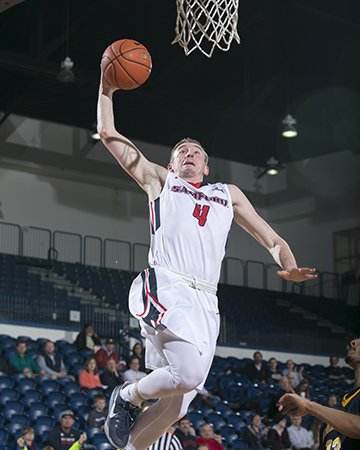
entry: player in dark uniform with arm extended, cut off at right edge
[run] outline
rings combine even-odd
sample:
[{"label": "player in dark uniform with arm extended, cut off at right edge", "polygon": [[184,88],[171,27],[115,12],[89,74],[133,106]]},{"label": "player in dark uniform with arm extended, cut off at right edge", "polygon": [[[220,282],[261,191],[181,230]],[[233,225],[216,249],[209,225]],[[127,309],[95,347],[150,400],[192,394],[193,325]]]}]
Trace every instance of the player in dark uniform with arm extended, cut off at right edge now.
[{"label": "player in dark uniform with arm extended, cut off at right edge", "polygon": [[312,414],[324,422],[320,429],[320,450],[360,448],[360,338],[349,343],[345,361],[355,371],[355,385],[334,408],[319,405],[295,394],[285,394],[278,401],[279,411],[284,414]]}]

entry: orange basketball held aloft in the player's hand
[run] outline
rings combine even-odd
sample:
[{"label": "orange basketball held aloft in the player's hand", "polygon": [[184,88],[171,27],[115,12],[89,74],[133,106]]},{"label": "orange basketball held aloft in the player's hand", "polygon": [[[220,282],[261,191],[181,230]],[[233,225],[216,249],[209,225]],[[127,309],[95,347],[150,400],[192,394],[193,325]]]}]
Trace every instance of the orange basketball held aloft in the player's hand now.
[{"label": "orange basketball held aloft in the player's hand", "polygon": [[138,41],[113,42],[101,58],[105,80],[115,89],[130,90],[141,86],[151,73],[151,55]]}]

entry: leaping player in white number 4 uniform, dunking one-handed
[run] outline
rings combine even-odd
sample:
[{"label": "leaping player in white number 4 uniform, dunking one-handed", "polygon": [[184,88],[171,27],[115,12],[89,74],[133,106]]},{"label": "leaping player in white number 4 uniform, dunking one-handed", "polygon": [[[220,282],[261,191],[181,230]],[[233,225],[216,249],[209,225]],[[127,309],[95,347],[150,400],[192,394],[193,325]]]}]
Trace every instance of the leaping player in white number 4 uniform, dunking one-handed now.
[{"label": "leaping player in white number 4 uniform, dunking one-handed", "polygon": [[[146,342],[149,375],[115,388],[105,431],[115,447],[148,448],[183,417],[201,389],[219,333],[217,283],[233,220],[260,242],[295,282],[316,278],[298,268],[287,243],[234,185],[206,184],[208,155],[194,139],[178,142],[167,168],[148,161],[114,125],[114,88],[100,82],[98,131],[120,166],[149,198],[150,268],[133,282],[129,309]],[[159,399],[132,424],[132,408]]]}]

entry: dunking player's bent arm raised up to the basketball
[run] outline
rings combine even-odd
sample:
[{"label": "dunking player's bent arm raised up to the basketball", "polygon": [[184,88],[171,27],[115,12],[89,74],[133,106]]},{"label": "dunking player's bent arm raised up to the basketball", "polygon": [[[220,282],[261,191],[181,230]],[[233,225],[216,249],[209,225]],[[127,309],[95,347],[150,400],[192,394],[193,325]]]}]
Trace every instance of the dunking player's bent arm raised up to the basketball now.
[{"label": "dunking player's bent arm raised up to the basketball", "polygon": [[147,160],[133,142],[116,131],[112,102],[114,91],[101,77],[97,105],[98,133],[120,166],[150,197],[156,197],[164,184],[167,170]]}]

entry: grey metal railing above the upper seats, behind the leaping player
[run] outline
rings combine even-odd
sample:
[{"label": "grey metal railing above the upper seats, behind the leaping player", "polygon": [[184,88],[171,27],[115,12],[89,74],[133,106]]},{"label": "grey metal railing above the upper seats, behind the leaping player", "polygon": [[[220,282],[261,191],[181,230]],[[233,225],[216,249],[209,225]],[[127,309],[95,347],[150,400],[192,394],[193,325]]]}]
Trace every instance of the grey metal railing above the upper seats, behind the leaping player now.
[{"label": "grey metal railing above the upper seats, behind the leaping player", "polygon": [[[58,260],[65,262],[133,272],[140,272],[148,265],[148,244],[131,244],[119,239],[82,236],[41,227],[21,227],[0,221],[0,253],[46,259],[51,257],[49,249],[53,250],[52,255],[56,254]],[[278,266],[274,263],[225,257],[221,282],[279,292],[301,290],[305,295],[341,298],[342,277],[339,274],[322,272],[316,280],[298,286],[279,278],[277,270]]]}]

